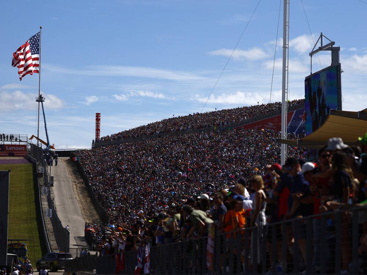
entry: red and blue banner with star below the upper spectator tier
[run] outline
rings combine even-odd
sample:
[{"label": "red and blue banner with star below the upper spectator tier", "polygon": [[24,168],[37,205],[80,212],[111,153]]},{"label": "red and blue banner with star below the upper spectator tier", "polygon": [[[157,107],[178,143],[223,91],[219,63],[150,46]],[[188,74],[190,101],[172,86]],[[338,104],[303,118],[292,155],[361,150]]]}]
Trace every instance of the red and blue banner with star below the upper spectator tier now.
[{"label": "red and blue banner with star below the upper spectator tier", "polygon": [[[306,114],[305,108],[291,111],[287,115],[287,132],[288,133],[304,133],[306,124]],[[264,118],[263,120],[258,120],[245,125],[236,127],[236,129],[270,129],[276,132],[281,131],[281,115],[276,115],[275,117]]]}]

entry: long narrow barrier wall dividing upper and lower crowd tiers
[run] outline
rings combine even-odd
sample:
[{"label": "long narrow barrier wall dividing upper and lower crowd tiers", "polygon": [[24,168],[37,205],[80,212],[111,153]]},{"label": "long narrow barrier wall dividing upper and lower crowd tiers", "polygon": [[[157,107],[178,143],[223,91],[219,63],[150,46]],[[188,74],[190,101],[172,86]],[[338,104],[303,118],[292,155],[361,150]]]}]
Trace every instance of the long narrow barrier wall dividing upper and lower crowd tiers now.
[{"label": "long narrow barrier wall dividing upper and lower crowd tiers", "polygon": [[[302,104],[296,104],[295,106],[289,106],[288,112],[298,110],[305,107],[305,103]],[[101,146],[108,146],[108,145],[116,145],[120,143],[126,143],[126,142],[134,142],[139,140],[148,140],[148,139],[155,139],[158,137],[165,137],[165,136],[177,136],[177,135],[184,135],[187,133],[194,133],[194,132],[203,132],[203,131],[215,131],[215,130],[225,130],[230,128],[235,128],[244,124],[248,124],[251,122],[255,122],[264,118],[273,117],[280,114],[280,110],[276,110],[273,112],[270,112],[269,114],[262,114],[262,115],[256,115],[255,117],[249,117],[245,120],[240,120],[236,122],[230,122],[226,123],[225,125],[210,125],[203,128],[196,128],[196,129],[187,129],[182,131],[175,131],[175,132],[161,132],[154,135],[143,135],[143,136],[133,136],[133,137],[127,137],[122,139],[114,139],[114,140],[102,140],[99,142],[92,143],[92,147],[101,147]]]}]

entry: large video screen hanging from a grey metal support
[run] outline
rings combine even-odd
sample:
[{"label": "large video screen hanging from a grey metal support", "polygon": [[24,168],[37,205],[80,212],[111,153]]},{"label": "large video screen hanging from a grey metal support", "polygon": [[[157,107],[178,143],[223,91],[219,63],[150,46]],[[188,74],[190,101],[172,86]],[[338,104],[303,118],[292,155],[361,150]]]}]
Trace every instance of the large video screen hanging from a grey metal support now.
[{"label": "large video screen hanging from a grey metal support", "polygon": [[306,135],[316,131],[330,110],[341,110],[340,64],[305,78]]}]

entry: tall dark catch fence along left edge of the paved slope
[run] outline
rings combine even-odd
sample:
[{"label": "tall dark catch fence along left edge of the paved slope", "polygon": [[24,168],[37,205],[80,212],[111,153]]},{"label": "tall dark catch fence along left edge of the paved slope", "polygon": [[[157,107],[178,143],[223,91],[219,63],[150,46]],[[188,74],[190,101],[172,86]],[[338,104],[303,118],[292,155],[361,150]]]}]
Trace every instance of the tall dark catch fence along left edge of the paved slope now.
[{"label": "tall dark catch fence along left edge of the paved slope", "polygon": [[[52,216],[51,218],[44,217],[44,219],[51,219],[52,223],[52,230],[54,231],[55,240],[58,246],[59,251],[65,251],[69,252],[69,244],[70,244],[70,232],[69,230],[65,229],[62,226],[62,223],[57,216],[56,207],[54,204],[54,201],[52,201],[51,198],[51,192],[50,192],[50,183],[48,181],[47,176],[47,166],[46,161],[43,155],[43,149],[41,147],[37,147],[35,144],[30,144],[31,146],[31,154],[33,158],[35,158],[40,166],[43,167],[44,173],[43,173],[43,179],[44,179],[44,186],[48,187],[48,194],[47,194],[47,205],[48,209],[52,209]],[[66,250],[65,250],[66,249]]]}]

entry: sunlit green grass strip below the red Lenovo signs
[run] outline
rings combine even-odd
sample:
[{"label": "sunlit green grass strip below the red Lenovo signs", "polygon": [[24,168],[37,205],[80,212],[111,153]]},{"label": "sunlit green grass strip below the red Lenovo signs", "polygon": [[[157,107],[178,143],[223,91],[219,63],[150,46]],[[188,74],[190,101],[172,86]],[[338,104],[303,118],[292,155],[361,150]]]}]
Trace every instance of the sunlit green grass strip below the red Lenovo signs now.
[{"label": "sunlit green grass strip below the red Lenovo signs", "polygon": [[[40,235],[40,214],[37,213],[34,196],[38,184],[33,181],[32,164],[0,164],[0,170],[11,170],[9,190],[8,239],[33,239],[27,244],[29,260],[35,267],[36,261],[47,253],[43,235]],[[36,200],[37,198],[37,200]]]}]

